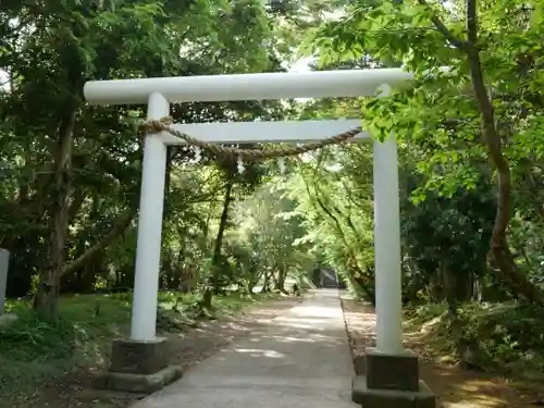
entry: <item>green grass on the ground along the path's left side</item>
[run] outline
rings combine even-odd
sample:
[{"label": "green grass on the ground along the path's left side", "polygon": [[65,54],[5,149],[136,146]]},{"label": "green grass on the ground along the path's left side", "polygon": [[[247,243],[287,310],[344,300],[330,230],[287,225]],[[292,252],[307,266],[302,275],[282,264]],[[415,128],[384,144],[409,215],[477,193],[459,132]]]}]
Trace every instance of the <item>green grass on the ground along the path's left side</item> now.
[{"label": "green grass on the ground along the path's left side", "polygon": [[[181,301],[176,301],[180,296]],[[271,298],[277,295],[233,292],[217,296],[208,317],[232,316]],[[193,325],[201,318],[197,302],[196,295],[161,293],[158,330],[176,331]],[[30,393],[78,368],[107,364],[112,339],[127,334],[131,305],[129,294],[63,297],[59,318],[48,321],[34,312],[28,302],[9,302],[8,311],[18,319],[0,326],[0,399]]]}]

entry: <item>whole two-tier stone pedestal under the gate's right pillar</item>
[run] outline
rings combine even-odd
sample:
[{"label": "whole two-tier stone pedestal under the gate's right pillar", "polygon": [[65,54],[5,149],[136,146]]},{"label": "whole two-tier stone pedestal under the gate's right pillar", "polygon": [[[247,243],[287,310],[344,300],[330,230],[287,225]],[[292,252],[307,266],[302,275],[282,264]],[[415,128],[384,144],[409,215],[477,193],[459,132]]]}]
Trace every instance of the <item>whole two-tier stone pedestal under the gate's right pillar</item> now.
[{"label": "whole two-tier stone pedestal under the gate's right pillar", "polygon": [[356,374],[351,399],[363,408],[437,407],[436,397],[419,380],[418,357],[410,350],[387,355],[369,348],[364,361],[356,361]]}]

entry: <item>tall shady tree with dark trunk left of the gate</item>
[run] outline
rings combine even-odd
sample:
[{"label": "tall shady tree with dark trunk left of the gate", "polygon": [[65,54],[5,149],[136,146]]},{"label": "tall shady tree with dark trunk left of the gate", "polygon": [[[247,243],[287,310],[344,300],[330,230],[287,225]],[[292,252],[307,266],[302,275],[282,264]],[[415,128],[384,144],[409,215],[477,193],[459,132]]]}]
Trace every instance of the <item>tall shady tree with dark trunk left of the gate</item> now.
[{"label": "tall shady tree with dark trunk left of the gate", "polygon": [[[83,84],[265,70],[268,17],[257,1],[10,2],[0,27],[9,79],[0,96],[2,172],[11,177],[0,202],[1,243],[14,254],[9,287],[35,290],[39,274],[36,308],[54,316],[63,282],[75,289],[88,271],[94,287],[100,276],[91,270],[106,268],[104,250],[132,228],[139,193],[134,123],[143,110],[87,107]],[[185,104],[173,115],[201,122],[228,109]]]}]

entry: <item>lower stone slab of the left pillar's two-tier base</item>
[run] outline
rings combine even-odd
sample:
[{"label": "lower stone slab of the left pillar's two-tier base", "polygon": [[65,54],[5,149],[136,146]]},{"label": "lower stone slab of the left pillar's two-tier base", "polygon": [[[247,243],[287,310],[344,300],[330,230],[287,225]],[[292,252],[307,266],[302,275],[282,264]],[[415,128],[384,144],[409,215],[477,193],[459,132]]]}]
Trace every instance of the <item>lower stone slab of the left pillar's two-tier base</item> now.
[{"label": "lower stone slab of the left pillar's two-tier base", "polygon": [[92,387],[126,393],[151,394],[176,381],[183,374],[178,366],[169,366],[153,374],[104,371],[92,375]]}]

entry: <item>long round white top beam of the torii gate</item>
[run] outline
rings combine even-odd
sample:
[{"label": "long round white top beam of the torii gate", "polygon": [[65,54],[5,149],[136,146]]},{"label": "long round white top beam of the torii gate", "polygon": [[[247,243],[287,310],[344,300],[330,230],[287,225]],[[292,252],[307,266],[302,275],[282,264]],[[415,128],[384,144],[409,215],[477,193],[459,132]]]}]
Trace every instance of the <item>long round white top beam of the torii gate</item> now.
[{"label": "long round white top beam of the torii gate", "polygon": [[91,81],[84,94],[91,104],[143,104],[152,92],[170,102],[370,97],[382,84],[395,87],[412,77],[403,69],[196,75]]}]

